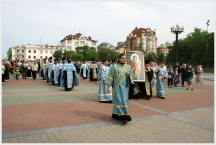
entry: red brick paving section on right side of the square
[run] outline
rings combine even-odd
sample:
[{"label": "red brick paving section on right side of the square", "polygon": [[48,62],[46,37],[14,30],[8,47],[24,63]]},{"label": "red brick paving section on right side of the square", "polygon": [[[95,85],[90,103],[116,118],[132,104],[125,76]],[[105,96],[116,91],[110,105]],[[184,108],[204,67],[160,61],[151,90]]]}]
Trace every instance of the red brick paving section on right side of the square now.
[{"label": "red brick paving section on right side of the square", "polygon": [[[210,88],[200,92],[188,90],[184,93],[167,94],[164,100],[153,97],[149,101],[143,99],[133,101],[165,112],[179,112],[209,107],[214,106],[214,90],[213,87]],[[203,89],[205,88],[203,87]]]}]

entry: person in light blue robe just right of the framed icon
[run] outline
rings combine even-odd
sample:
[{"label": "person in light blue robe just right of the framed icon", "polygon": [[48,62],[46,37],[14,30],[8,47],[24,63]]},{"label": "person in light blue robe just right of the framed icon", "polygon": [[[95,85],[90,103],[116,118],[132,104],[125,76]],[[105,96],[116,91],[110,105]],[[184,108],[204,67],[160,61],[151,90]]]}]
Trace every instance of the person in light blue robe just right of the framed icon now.
[{"label": "person in light blue robe just right of the framed icon", "polygon": [[168,71],[164,62],[156,68],[155,73],[157,76],[156,96],[165,99],[165,79],[168,78]]}]

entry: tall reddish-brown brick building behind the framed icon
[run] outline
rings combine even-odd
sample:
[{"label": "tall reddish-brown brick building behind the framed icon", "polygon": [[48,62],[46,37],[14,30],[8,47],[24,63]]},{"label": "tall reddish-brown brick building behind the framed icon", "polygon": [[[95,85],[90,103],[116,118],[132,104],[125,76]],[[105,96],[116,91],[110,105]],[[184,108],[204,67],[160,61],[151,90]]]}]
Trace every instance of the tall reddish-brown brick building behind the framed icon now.
[{"label": "tall reddish-brown brick building behind the framed icon", "polygon": [[126,40],[126,50],[134,50],[134,47],[141,47],[146,53],[157,52],[156,32],[150,28],[135,28]]}]

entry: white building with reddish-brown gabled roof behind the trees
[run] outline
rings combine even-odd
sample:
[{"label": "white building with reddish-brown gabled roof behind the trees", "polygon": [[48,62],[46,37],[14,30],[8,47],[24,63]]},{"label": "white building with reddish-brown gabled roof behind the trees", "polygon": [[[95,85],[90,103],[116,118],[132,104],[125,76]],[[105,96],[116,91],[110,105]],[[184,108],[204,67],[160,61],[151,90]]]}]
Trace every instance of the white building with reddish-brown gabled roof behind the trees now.
[{"label": "white building with reddish-brown gabled roof behind the trees", "polygon": [[97,40],[93,40],[90,36],[86,37],[83,34],[77,33],[75,35],[68,35],[61,41],[61,46],[65,48],[65,50],[76,51],[76,47],[81,47],[84,45],[88,45],[89,47],[94,47],[97,50]]}]

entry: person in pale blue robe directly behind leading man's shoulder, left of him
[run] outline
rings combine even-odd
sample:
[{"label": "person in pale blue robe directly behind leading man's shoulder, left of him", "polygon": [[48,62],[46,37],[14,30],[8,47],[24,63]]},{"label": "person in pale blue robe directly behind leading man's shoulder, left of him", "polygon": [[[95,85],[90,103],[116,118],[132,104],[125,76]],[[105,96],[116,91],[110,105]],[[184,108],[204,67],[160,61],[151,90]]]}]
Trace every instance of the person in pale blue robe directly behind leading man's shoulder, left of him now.
[{"label": "person in pale blue robe directly behind leading man's shoulder, left of him", "polygon": [[112,87],[110,86],[110,92],[107,93],[107,85],[104,83],[106,76],[109,73],[110,67],[108,66],[108,59],[103,60],[103,65],[100,67],[98,73],[98,80],[100,80],[98,88],[98,100],[100,102],[112,102]]}]

